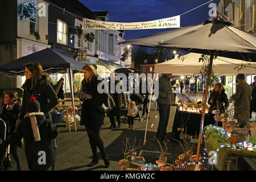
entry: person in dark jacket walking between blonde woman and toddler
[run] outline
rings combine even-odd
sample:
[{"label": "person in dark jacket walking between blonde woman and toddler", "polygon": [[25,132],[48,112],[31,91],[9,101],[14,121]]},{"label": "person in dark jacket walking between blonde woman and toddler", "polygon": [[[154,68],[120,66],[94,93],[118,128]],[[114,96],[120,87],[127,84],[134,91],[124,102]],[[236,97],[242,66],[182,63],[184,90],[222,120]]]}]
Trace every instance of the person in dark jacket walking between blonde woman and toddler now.
[{"label": "person in dark jacket walking between blonde woman and toddler", "polygon": [[110,81],[109,81],[109,94],[110,96],[112,96],[114,102],[115,102],[115,107],[112,111],[110,111],[109,113],[109,119],[110,119],[110,129],[117,127],[115,125],[115,118],[117,118],[117,122],[118,122],[118,127],[121,126],[121,118],[120,118],[120,109],[122,107],[122,105],[127,105],[126,103],[126,96],[125,93],[121,92],[118,93],[116,89],[117,84],[119,84],[119,88],[122,90],[122,84],[120,83],[120,81],[115,80],[115,73],[110,73]]}]

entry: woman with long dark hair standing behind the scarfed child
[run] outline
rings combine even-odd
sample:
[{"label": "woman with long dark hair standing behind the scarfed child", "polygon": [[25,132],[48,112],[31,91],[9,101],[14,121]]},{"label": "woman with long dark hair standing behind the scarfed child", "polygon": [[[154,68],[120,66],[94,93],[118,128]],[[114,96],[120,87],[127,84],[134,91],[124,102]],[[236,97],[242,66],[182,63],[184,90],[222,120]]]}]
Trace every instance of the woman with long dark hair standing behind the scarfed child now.
[{"label": "woman with long dark hair standing behind the scarfed child", "polygon": [[19,125],[19,122],[23,121],[26,114],[25,106],[31,96],[36,97],[36,100],[40,103],[40,111],[51,121],[50,111],[58,104],[58,97],[51,86],[51,77],[43,73],[43,68],[39,63],[28,63],[25,66],[24,75],[26,76],[26,81],[22,85],[24,90],[23,104],[16,127]]}]

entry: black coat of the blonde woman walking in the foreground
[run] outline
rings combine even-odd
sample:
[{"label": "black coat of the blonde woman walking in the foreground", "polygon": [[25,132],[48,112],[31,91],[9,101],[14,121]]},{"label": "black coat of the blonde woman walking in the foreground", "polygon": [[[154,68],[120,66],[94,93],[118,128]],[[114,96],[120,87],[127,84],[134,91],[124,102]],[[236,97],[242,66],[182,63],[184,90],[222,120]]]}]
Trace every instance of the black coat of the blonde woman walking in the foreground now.
[{"label": "black coat of the blonde woman walking in the foreground", "polygon": [[100,127],[104,122],[104,113],[98,109],[106,103],[108,96],[105,93],[98,93],[97,86],[101,81],[93,77],[91,81],[82,80],[82,93],[92,95],[92,99],[84,100],[82,104],[81,125],[85,127]]}]

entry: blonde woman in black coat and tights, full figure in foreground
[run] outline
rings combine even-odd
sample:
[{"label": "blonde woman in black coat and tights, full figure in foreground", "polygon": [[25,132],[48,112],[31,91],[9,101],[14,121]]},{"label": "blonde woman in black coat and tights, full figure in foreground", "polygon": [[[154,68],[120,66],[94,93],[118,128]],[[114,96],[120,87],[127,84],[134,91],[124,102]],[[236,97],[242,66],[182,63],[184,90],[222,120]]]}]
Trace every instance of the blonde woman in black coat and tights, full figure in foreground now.
[{"label": "blonde woman in black coat and tights, full figure in foreground", "polygon": [[84,80],[82,80],[82,94],[80,95],[80,99],[83,101],[80,123],[85,125],[93,153],[93,160],[88,166],[92,167],[98,163],[98,147],[104,159],[105,167],[108,168],[109,158],[100,137],[101,126],[104,122],[104,112],[101,110],[101,105],[105,103],[108,97],[104,93],[98,93],[97,86],[100,81],[97,80],[98,74],[93,65],[86,64],[82,68],[82,73],[84,73]]}]

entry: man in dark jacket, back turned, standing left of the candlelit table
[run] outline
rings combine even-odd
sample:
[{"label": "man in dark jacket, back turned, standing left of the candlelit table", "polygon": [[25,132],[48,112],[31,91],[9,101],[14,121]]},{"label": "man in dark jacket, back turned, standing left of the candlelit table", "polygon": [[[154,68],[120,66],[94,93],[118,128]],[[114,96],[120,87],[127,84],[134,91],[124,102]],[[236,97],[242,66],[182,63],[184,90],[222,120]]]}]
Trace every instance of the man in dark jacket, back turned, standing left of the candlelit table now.
[{"label": "man in dark jacket, back turned, standing left of the candlelit table", "polygon": [[172,74],[164,74],[159,78],[159,96],[157,99],[159,106],[159,124],[156,138],[160,141],[166,140],[166,129],[169,121],[171,105],[174,104],[174,94],[172,93]]}]

